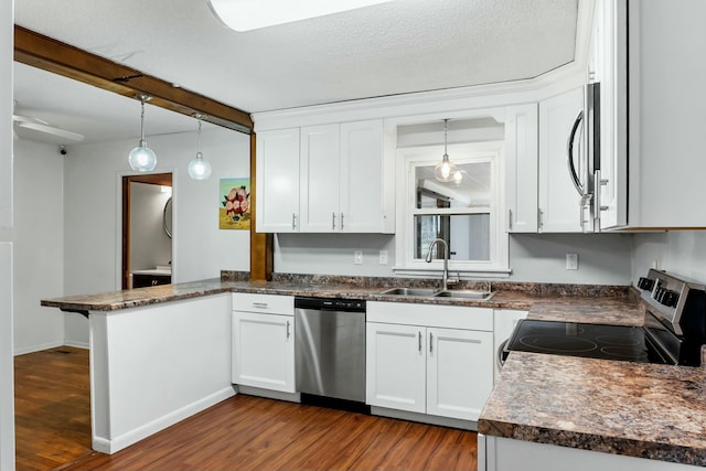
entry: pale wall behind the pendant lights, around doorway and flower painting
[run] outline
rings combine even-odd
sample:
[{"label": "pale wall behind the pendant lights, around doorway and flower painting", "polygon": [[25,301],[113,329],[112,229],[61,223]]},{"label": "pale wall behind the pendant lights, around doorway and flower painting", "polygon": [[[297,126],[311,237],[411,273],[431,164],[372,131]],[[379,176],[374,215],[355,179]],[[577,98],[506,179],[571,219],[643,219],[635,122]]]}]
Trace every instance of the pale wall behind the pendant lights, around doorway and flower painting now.
[{"label": "pale wall behind the pendant lights, around doorway and flower painting", "polygon": [[[217,278],[222,269],[249,270],[249,232],[218,229],[218,180],[249,175],[249,136],[224,128],[204,130],[202,151],[213,165],[206,181],[193,181],[186,164],[195,132],[148,136],[157,152],[154,172],[173,172],[173,280]],[[135,174],[127,153],[135,141],[74,146],[64,160],[64,291],[83,295],[120,287],[119,181]],[[66,340],[88,344],[87,321],[66,317]]]}]

